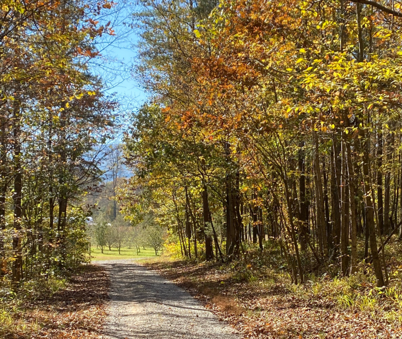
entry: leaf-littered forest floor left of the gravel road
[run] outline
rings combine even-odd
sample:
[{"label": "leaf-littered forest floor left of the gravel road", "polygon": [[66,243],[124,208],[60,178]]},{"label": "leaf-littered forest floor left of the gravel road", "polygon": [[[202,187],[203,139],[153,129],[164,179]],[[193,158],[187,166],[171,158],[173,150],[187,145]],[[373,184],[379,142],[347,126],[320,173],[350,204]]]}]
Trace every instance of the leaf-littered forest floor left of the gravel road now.
[{"label": "leaf-littered forest floor left of the gravel road", "polygon": [[[4,339],[99,339],[106,318],[109,276],[101,266],[86,265],[54,294],[30,295],[0,303]],[[59,288],[60,287],[60,288]],[[48,292],[48,291],[47,291]]]}]

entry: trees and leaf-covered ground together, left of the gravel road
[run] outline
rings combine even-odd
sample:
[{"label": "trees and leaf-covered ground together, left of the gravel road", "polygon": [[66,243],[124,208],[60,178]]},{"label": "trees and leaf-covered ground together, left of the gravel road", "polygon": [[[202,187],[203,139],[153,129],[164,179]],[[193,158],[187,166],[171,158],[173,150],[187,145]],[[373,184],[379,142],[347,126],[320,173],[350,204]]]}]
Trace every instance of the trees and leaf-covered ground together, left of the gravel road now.
[{"label": "trees and leaf-covered ground together, left of the gravel road", "polygon": [[107,278],[83,268],[90,209],[82,202],[119,129],[116,98],[88,70],[100,38],[114,35],[99,19],[111,7],[103,0],[0,7],[2,338],[91,338],[104,317]]}]

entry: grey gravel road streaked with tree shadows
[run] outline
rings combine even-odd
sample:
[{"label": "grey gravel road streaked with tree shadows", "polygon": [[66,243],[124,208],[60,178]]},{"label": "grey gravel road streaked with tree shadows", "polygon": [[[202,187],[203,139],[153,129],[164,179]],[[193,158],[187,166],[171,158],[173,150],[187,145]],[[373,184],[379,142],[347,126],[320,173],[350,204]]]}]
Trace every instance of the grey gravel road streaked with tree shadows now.
[{"label": "grey gravel road streaked with tree shadows", "polygon": [[242,338],[186,291],[132,260],[96,264],[111,277],[107,338]]}]

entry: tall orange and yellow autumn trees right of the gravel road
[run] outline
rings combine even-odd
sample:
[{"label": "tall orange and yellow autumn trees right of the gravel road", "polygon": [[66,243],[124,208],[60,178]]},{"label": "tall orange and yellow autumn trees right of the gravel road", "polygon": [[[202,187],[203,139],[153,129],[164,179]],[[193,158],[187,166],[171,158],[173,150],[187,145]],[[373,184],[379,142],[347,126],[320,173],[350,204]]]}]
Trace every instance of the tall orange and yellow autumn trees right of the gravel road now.
[{"label": "tall orange and yellow autumn trees right of the gravel road", "polygon": [[401,3],[140,5],[152,98],[125,136],[126,213],[155,213],[186,257],[272,239],[294,283],[370,263],[387,285],[385,247],[402,236]]}]

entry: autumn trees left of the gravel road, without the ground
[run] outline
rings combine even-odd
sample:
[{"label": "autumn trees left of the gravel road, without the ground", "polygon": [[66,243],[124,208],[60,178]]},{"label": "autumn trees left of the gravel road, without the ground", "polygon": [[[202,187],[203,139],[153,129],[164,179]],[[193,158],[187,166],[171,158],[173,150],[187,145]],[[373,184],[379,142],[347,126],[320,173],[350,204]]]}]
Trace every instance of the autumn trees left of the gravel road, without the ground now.
[{"label": "autumn trees left of the gravel road, without the ground", "polygon": [[12,1],[0,8],[0,280],[22,283],[86,261],[80,198],[102,174],[99,143],[117,103],[88,63],[112,36],[107,1]]}]

